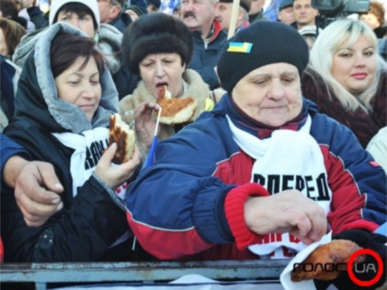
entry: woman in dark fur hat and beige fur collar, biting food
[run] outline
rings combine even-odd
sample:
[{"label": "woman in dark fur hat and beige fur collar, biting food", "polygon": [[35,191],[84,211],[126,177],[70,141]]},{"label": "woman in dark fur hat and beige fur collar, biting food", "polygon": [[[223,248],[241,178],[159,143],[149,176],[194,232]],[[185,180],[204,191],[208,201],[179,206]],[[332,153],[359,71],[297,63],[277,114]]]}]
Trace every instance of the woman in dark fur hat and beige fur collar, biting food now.
[{"label": "woman in dark fur hat and beige fur collar, biting food", "polygon": [[[192,35],[181,20],[157,13],[144,15],[134,22],[124,33],[122,54],[124,63],[133,73],[139,74],[141,81],[133,94],[119,103],[119,113],[124,121],[133,126],[135,110],[145,101],[155,103],[159,89],[164,85],[168,86],[172,98],[191,96],[197,100],[196,111],[189,122],[195,121],[202,112],[211,110],[225,91],[210,91],[195,70],[186,68],[192,53]],[[144,110],[144,106],[140,110]],[[181,124],[161,124],[158,137],[166,139],[181,127]],[[144,143],[150,145],[150,142]],[[141,148],[141,144],[138,146],[143,158],[146,157],[147,149]]]}]

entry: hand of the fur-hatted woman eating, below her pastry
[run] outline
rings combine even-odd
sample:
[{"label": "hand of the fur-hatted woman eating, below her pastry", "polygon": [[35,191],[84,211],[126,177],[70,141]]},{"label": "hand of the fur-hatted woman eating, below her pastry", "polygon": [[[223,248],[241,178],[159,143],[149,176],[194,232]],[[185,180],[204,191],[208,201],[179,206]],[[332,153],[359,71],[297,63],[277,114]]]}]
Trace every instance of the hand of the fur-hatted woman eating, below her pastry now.
[{"label": "hand of the fur-hatted woman eating, below her pastry", "polygon": [[141,103],[135,111],[136,137],[147,150],[151,147],[156,128],[152,112],[158,107],[159,105],[146,101]]}]

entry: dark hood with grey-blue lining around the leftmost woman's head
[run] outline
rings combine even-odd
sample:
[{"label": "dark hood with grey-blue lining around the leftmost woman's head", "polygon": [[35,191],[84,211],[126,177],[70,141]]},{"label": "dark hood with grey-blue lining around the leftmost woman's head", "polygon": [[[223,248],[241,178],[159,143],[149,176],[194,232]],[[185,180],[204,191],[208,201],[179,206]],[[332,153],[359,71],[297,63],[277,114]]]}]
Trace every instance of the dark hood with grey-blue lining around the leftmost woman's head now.
[{"label": "dark hood with grey-blue lining around the leftmost woman's head", "polygon": [[66,23],[54,24],[40,33],[19,79],[13,121],[27,120],[47,132],[81,133],[94,127],[108,126],[109,115],[118,109],[118,93],[107,69],[100,76],[102,97],[92,122],[78,106],[58,98],[49,51],[52,39],[60,31],[87,37],[81,30]]}]

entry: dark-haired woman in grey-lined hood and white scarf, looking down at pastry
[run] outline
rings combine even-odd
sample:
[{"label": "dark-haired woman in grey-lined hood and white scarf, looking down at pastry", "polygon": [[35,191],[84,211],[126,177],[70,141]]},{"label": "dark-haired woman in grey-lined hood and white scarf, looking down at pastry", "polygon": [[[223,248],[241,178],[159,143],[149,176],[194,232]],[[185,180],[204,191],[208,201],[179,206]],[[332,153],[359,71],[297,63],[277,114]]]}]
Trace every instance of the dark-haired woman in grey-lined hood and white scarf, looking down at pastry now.
[{"label": "dark-haired woman in grey-lined hood and white scarf, looking down at pastry", "polygon": [[7,188],[0,210],[5,261],[130,259],[117,250],[129,236],[115,189],[123,191],[140,156],[135,150],[130,161],[110,166],[109,116],[117,108],[117,91],[94,40],[66,23],[42,32],[23,67],[5,134],[29,160],[52,164],[63,185],[63,208],[42,226],[28,227]]}]

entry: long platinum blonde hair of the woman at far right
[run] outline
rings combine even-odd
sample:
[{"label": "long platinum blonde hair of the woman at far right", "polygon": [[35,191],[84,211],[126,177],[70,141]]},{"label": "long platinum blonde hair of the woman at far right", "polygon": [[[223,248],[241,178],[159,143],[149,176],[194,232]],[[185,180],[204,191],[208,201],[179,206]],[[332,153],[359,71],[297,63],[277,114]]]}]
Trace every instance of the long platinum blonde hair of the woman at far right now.
[{"label": "long platinum blonde hair of the woman at far right", "polygon": [[[359,95],[354,96],[332,76],[332,63],[334,54],[344,44],[351,46],[360,36],[369,41],[375,49],[377,69],[371,84]],[[310,50],[308,67],[318,72],[327,86],[327,91],[332,90],[344,108],[355,110],[360,106],[363,109],[370,110],[370,102],[377,92],[380,73],[381,70],[385,69],[385,62],[378,53],[377,39],[374,32],[361,21],[342,19],[332,22],[318,35]],[[306,71],[306,73],[308,72]],[[332,99],[330,93],[329,98]]]}]

